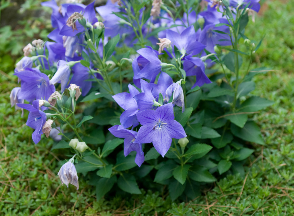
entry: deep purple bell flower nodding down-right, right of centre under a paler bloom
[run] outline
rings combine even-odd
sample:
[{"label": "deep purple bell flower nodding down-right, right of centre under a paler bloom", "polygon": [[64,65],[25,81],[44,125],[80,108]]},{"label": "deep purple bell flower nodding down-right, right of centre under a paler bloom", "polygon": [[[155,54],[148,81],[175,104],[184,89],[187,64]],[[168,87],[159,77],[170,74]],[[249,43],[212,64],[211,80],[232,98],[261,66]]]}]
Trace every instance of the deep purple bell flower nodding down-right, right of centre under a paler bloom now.
[{"label": "deep purple bell flower nodding down-right, right of centre under a paler bloom", "polygon": [[197,57],[186,58],[183,63],[186,76],[196,76],[196,83],[192,86],[203,86],[205,83],[212,83],[205,74],[204,62]]}]

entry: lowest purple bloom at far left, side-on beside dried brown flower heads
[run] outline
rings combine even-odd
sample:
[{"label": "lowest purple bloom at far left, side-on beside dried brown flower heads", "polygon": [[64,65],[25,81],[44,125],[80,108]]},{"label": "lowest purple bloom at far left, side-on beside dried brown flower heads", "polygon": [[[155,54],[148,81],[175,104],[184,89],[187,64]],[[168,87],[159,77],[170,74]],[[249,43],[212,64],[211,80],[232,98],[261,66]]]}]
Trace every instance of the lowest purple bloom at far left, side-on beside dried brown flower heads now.
[{"label": "lowest purple bloom at far left, side-on beside dried brown flower heads", "polygon": [[33,105],[31,104],[16,104],[18,107],[28,110],[29,117],[26,122],[26,125],[35,129],[32,134],[32,138],[35,144],[37,144],[41,140],[42,127],[46,122],[46,114],[39,110],[39,99],[33,101]]}]

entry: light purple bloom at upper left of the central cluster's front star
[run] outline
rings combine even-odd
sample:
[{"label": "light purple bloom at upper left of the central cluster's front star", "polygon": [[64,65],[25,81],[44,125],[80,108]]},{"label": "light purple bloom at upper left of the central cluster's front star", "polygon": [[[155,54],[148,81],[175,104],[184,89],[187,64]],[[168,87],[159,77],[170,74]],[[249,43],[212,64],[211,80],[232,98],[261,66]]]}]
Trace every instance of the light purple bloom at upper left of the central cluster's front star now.
[{"label": "light purple bloom at upper left of the central cluster's front star", "polygon": [[119,118],[121,125],[124,128],[131,126],[136,127],[139,124],[136,116],[136,113],[138,112],[138,105],[134,96],[140,92],[131,84],[128,85],[128,88],[130,93],[122,92],[112,96],[116,103],[118,103],[118,105],[125,110]]}]

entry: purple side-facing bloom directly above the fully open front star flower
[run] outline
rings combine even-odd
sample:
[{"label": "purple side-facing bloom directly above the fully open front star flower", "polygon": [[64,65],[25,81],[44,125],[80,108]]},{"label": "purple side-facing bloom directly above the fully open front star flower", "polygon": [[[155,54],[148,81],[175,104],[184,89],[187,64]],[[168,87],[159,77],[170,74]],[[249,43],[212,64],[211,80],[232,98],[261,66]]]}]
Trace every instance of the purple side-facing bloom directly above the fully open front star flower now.
[{"label": "purple side-facing bloom directly above the fully open front star flower", "polygon": [[142,92],[134,95],[134,99],[138,104],[140,111],[145,109],[151,109],[154,105],[155,98],[152,94],[152,86],[145,80],[141,79]]}]

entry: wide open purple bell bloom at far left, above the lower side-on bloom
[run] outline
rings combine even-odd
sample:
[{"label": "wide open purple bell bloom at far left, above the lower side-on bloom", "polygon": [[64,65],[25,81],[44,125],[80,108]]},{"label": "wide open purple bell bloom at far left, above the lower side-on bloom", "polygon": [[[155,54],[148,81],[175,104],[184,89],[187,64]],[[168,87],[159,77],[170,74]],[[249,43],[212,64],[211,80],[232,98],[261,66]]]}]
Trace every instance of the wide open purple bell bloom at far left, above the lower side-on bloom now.
[{"label": "wide open purple bell bloom at far left, above the lower side-on bloom", "polygon": [[50,95],[55,92],[55,86],[49,84],[49,78],[38,69],[26,69],[14,75],[21,79],[21,91],[19,99],[33,101],[35,99],[48,100]]}]

